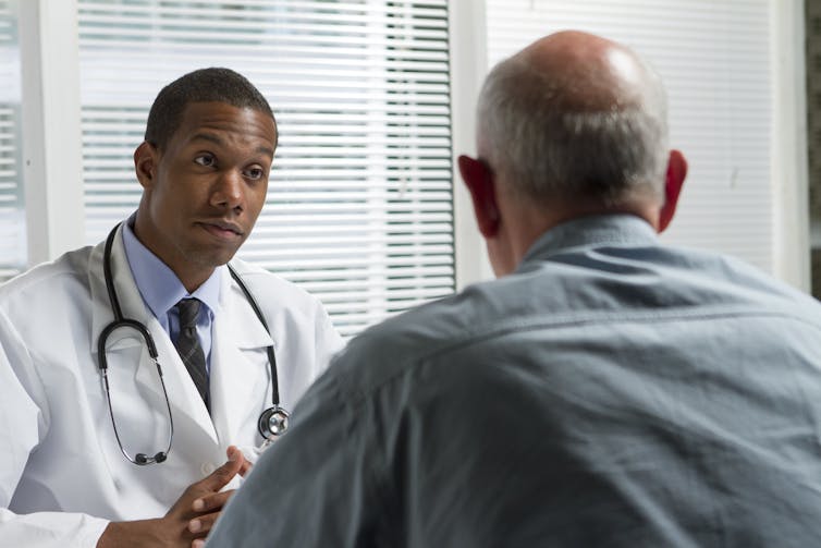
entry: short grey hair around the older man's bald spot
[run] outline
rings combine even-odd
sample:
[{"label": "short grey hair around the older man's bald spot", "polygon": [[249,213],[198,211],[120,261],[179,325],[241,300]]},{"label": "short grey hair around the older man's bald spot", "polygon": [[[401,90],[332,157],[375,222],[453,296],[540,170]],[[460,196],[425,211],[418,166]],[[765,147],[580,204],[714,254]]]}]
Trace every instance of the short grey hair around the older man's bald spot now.
[{"label": "short grey hair around the older man's bald spot", "polygon": [[573,82],[539,72],[518,56],[499,63],[479,95],[477,125],[486,160],[508,175],[507,191],[538,203],[584,197],[614,207],[638,196],[663,200],[666,97],[655,72],[638,62],[647,84],[640,100],[597,108],[579,107]]}]

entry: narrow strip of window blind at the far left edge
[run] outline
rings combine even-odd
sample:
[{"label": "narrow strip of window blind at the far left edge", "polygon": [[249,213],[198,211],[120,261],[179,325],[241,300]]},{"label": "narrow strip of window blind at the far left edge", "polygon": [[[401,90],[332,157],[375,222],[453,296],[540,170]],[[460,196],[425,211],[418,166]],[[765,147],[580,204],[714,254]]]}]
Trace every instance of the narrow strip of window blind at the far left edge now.
[{"label": "narrow strip of window blind at the far left edge", "polygon": [[21,170],[20,40],[14,5],[0,0],[0,280],[26,266]]}]

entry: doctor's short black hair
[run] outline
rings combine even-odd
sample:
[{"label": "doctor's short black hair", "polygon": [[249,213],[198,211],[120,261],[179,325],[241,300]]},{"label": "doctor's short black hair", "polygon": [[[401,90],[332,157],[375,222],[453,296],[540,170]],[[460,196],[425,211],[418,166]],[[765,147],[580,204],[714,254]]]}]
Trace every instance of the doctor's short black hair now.
[{"label": "doctor's short black hair", "polygon": [[[183,111],[191,102],[224,102],[241,109],[257,110],[271,117],[277,129],[277,119],[271,106],[254,84],[231,69],[210,68],[184,74],[157,94],[148,112],[145,139],[160,150],[164,149],[180,127]],[[274,135],[275,148],[279,141],[278,129]]]}]

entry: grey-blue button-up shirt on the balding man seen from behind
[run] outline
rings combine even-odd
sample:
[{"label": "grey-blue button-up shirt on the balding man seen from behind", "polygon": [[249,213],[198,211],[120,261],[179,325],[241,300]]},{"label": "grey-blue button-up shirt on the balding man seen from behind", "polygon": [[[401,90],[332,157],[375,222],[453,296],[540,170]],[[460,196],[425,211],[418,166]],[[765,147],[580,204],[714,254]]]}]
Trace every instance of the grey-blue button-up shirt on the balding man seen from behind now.
[{"label": "grey-blue button-up shirt on the balding man seen from behind", "polygon": [[567,222],[353,340],[208,546],[821,546],[821,306]]}]

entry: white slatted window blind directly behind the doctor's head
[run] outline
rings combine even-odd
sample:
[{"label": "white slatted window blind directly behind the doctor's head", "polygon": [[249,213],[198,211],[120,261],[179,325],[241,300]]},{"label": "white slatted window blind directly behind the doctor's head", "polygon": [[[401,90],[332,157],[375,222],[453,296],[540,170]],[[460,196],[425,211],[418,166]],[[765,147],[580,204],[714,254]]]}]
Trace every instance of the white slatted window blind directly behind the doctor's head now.
[{"label": "white slatted window blind directly behind the doctor's head", "polygon": [[159,89],[228,66],[280,144],[238,256],[322,300],[343,336],[454,290],[446,0],[79,0],[86,234],[136,208]]}]

